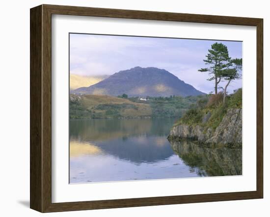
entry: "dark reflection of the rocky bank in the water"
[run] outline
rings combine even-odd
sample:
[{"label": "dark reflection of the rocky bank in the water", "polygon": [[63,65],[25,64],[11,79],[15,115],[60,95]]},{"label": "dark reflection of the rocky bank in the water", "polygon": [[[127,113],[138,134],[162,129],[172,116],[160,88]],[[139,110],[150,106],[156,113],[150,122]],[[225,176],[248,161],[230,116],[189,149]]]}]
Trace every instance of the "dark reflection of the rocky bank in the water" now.
[{"label": "dark reflection of the rocky bank in the water", "polygon": [[242,148],[170,141],[173,151],[200,176],[242,175]]}]

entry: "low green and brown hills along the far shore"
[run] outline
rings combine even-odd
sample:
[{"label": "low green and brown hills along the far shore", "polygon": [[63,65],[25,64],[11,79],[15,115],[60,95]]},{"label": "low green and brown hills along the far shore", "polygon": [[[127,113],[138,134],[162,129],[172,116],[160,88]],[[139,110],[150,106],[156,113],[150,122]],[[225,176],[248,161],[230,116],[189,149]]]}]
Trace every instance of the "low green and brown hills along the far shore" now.
[{"label": "low green and brown hills along the far shore", "polygon": [[108,95],[70,95],[70,118],[180,118],[204,96],[138,97],[123,99]]}]

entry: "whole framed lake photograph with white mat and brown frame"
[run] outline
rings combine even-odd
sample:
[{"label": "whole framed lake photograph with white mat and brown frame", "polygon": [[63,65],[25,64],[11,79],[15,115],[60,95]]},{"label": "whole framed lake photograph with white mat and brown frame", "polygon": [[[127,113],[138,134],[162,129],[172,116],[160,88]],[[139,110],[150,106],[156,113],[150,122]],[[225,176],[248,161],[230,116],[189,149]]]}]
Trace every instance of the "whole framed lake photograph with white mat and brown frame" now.
[{"label": "whole framed lake photograph with white mat and brown frame", "polygon": [[263,198],[263,19],[30,9],[30,208]]}]

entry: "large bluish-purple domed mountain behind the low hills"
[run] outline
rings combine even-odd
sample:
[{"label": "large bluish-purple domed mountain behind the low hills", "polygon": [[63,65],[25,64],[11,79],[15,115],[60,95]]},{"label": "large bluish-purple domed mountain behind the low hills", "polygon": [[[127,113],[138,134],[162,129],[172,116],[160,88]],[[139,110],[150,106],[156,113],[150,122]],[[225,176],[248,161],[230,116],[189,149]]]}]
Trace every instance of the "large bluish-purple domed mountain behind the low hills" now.
[{"label": "large bluish-purple domed mountain behind the low hills", "polygon": [[118,96],[195,96],[204,94],[190,84],[181,81],[164,69],[155,67],[141,68],[139,66],[111,75],[89,87],[74,90],[75,94],[101,94]]}]

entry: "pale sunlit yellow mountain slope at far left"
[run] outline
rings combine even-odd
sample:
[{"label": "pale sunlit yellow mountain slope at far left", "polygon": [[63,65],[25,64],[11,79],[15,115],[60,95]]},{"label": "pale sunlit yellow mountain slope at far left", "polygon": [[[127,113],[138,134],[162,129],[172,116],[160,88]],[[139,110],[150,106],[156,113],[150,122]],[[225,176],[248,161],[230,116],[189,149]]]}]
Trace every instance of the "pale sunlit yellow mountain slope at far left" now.
[{"label": "pale sunlit yellow mountain slope at far left", "polygon": [[87,87],[91,86],[99,81],[107,79],[108,75],[101,75],[101,76],[81,76],[81,75],[74,75],[71,74],[69,77],[69,86],[70,90],[75,90],[79,87]]}]

